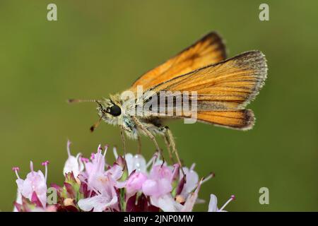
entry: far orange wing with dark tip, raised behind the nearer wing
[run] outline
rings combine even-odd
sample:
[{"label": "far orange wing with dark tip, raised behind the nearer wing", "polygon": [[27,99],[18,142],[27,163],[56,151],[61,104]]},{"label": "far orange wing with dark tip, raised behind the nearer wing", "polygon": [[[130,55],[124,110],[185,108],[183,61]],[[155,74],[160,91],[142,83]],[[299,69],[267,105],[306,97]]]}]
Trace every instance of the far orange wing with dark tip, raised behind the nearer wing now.
[{"label": "far orange wing with dark tip, raised behind the nearer wing", "polygon": [[225,58],[225,45],[221,37],[216,32],[208,33],[175,57],[138,78],[130,90],[136,91],[137,85],[143,85],[143,91],[146,91],[155,85],[203,66],[223,61]]}]

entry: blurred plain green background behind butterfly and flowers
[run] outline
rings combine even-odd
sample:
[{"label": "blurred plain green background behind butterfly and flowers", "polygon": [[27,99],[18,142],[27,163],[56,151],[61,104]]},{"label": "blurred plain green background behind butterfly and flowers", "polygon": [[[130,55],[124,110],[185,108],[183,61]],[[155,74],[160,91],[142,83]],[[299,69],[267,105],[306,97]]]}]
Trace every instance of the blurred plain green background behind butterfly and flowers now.
[{"label": "blurred plain green background behind butterfly and flowers", "polygon": [[[47,21],[47,4],[58,21]],[[269,21],[259,4],[269,4]],[[318,1],[0,1],[0,210],[12,210],[16,176],[49,160],[49,183],[63,182],[66,140],[90,155],[99,143],[122,147],[119,129],[102,124],[95,105],[67,105],[69,97],[107,97],[211,30],[225,39],[228,57],[259,49],[269,76],[242,132],[206,124],[170,124],[186,165],[230,211],[318,210]],[[142,139],[151,157],[153,143]],[[162,141],[160,141],[163,144]],[[136,153],[136,142],[128,150]],[[119,150],[121,151],[121,150]],[[112,153],[107,155],[113,160]],[[269,205],[259,189],[269,188]]]}]

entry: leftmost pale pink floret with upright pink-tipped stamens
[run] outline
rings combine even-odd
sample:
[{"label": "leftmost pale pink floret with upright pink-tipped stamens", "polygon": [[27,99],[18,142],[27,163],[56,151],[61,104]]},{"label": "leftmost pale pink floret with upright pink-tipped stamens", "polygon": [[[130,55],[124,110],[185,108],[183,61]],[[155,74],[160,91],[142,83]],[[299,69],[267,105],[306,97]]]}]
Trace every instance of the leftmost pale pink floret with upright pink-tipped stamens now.
[{"label": "leftmost pale pink floret with upright pink-tipped stamens", "polygon": [[18,184],[18,198],[17,203],[21,204],[20,198],[21,195],[25,198],[28,198],[30,201],[33,199],[33,193],[37,195],[42,204],[42,207],[45,208],[47,203],[47,165],[48,161],[43,162],[42,165],[45,165],[45,175],[38,170],[35,172],[33,170],[33,162],[30,162],[31,172],[28,173],[26,179],[20,179],[18,175],[18,167],[14,167],[13,170],[16,172],[18,179],[16,184]]}]

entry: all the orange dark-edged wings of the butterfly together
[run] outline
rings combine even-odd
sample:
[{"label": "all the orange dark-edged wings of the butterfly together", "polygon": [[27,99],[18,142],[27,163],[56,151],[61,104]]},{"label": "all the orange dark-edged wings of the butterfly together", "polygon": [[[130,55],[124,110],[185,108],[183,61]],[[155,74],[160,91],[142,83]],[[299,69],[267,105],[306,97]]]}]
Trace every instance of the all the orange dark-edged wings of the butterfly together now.
[{"label": "all the orange dark-edged wings of the butterfly together", "polygon": [[[259,93],[267,75],[264,54],[251,51],[225,60],[225,45],[216,32],[148,71],[131,86],[152,90],[197,93],[198,121],[232,129],[251,129],[252,110],[245,106]],[[190,95],[191,97],[191,95]],[[147,100],[145,100],[147,102]],[[170,117],[160,114],[159,117]],[[186,117],[182,114],[182,117]]]}]

